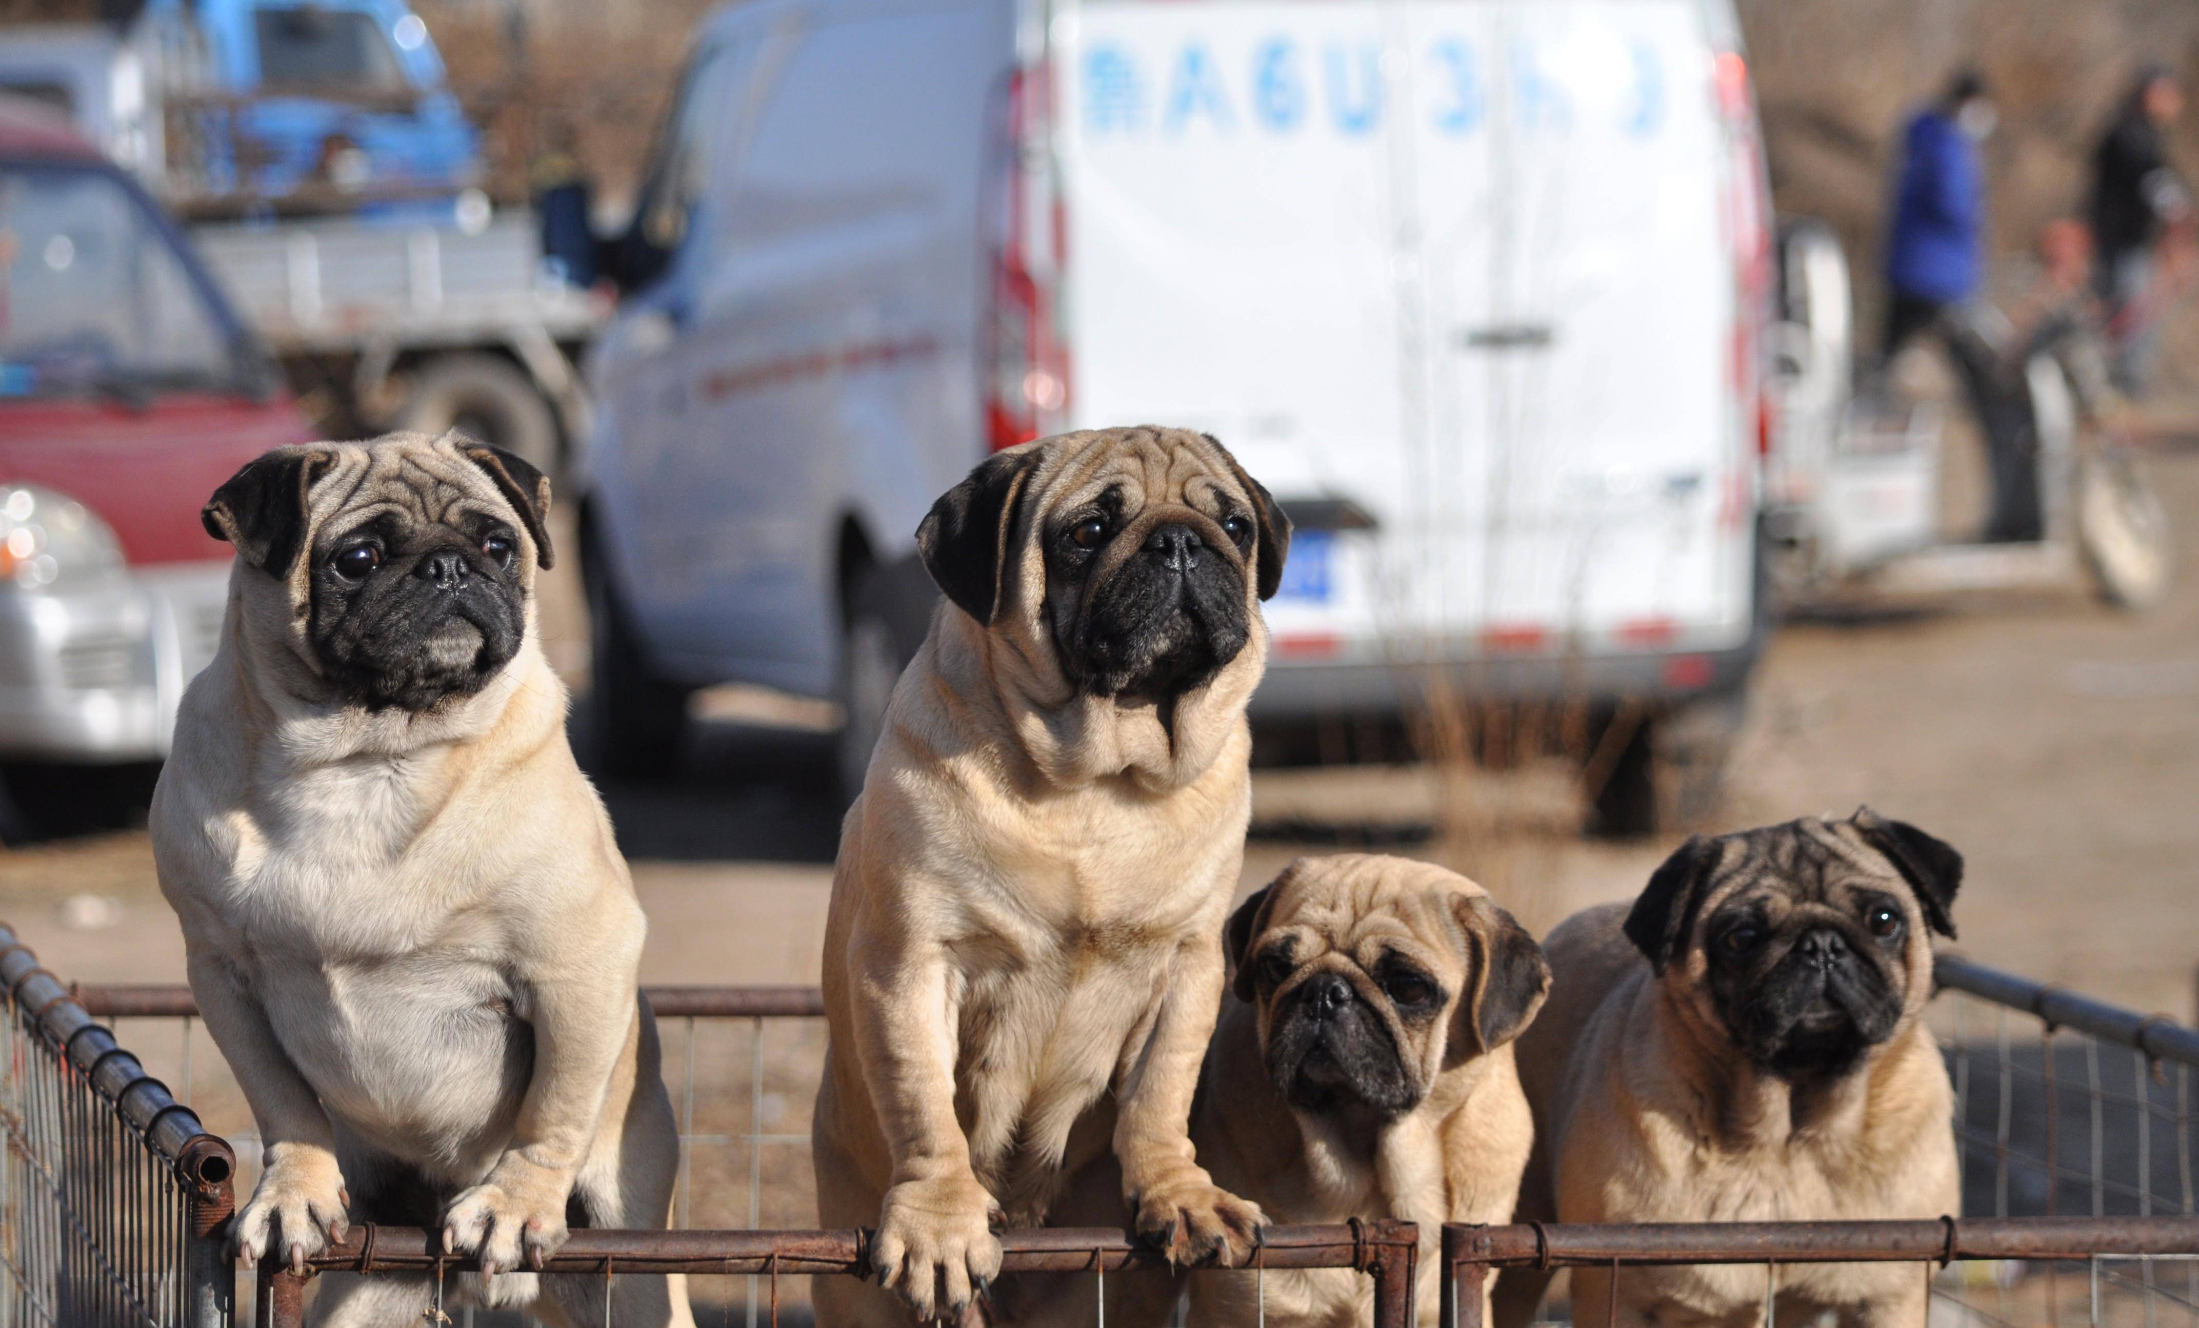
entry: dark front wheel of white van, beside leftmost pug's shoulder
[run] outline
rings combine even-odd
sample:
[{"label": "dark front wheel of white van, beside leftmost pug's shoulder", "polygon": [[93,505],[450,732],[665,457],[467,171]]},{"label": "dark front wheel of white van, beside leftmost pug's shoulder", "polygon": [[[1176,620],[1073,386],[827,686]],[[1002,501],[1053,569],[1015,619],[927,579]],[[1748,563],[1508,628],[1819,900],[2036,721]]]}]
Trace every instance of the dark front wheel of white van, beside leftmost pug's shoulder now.
[{"label": "dark front wheel of white van, beside leftmost pug's shoulder", "polygon": [[607,554],[589,541],[581,578],[587,587],[589,682],[583,719],[585,750],[596,774],[662,778],[679,767],[688,688],[649,666],[633,616],[618,598]]}]

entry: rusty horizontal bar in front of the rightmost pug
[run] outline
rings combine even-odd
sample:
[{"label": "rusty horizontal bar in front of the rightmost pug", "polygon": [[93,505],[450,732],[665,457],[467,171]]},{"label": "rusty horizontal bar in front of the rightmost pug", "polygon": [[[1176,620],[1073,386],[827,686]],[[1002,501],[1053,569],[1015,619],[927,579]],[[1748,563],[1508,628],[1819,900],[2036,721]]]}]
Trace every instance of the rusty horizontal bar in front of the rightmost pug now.
[{"label": "rusty horizontal bar in front of the rightmost pug", "polygon": [[1849,1264],[2190,1255],[2199,1216],[1445,1227],[1451,1264]]}]

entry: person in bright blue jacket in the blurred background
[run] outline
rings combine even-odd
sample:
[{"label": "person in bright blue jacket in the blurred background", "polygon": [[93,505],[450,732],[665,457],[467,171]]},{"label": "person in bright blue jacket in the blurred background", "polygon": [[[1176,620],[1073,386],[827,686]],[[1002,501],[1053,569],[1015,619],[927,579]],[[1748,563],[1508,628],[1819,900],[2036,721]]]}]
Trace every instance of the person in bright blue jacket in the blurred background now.
[{"label": "person in bright blue jacket in the blurred background", "polygon": [[1902,174],[1887,235],[1885,361],[1918,332],[1935,328],[1948,306],[1977,295],[1986,244],[1986,171],[1977,145],[1992,125],[1986,79],[1966,68],[1902,134]]}]

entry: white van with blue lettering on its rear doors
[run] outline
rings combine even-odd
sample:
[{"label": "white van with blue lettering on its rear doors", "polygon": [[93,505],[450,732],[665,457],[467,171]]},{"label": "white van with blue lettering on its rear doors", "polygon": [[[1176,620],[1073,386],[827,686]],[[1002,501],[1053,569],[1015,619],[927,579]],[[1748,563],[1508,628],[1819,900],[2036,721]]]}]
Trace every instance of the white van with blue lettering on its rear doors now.
[{"label": "white van with blue lettering on its rear doors", "polygon": [[1297,523],[1258,715],[1733,695],[1768,255],[1728,0],[732,7],[592,365],[614,756],[743,679],[840,697],[860,770],[932,497],[1119,422]]}]

